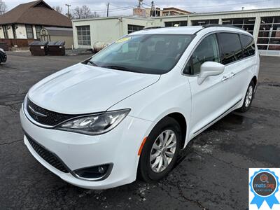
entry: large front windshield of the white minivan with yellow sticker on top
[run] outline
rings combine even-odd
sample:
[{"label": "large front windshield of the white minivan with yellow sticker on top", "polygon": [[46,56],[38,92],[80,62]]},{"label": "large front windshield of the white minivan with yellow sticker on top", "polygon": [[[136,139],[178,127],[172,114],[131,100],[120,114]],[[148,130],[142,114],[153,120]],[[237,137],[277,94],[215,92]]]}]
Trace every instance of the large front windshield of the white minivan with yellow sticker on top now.
[{"label": "large front windshield of the white minivan with yellow sticker on top", "polygon": [[141,34],[115,41],[85,64],[137,73],[163,74],[174,68],[194,35]]}]

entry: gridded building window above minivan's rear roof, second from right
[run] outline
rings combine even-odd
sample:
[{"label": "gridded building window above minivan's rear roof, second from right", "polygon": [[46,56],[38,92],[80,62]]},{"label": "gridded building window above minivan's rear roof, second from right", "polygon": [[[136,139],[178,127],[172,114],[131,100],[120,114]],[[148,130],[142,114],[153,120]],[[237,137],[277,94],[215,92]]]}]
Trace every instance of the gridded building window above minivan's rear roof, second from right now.
[{"label": "gridded building window above minivan's rear roof, second from right", "polygon": [[255,18],[233,18],[233,19],[223,19],[223,25],[232,25],[239,27],[253,34],[253,29],[255,27]]}]

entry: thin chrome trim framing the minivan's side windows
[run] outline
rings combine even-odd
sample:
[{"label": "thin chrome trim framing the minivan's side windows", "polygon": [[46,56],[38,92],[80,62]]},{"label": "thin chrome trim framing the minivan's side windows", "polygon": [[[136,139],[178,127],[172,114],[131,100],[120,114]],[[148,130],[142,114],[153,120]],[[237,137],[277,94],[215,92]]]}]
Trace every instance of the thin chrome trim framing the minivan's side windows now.
[{"label": "thin chrome trim framing the minivan's side windows", "polygon": [[[250,34],[246,34],[246,33],[242,33],[242,31],[240,32],[237,32],[237,31],[226,31],[226,30],[222,30],[222,31],[211,31],[207,34],[204,34],[204,36],[202,36],[202,38],[200,38],[200,41],[198,41],[196,44],[195,44],[195,47],[193,48],[193,50],[190,52],[190,55],[188,55],[188,59],[186,59],[186,62],[185,64],[183,65],[183,68],[181,69],[181,75],[183,76],[188,76],[188,77],[197,77],[197,76],[200,76],[200,73],[197,73],[197,74],[188,74],[188,73],[183,73],[184,69],[186,68],[186,65],[188,64],[188,61],[190,60],[190,57],[193,55],[193,52],[196,50],[197,46],[200,45],[200,43],[204,40],[204,38],[207,38],[207,36],[210,36],[211,34],[218,34],[218,33],[230,33],[230,34],[242,34],[242,35],[246,35],[246,36],[250,36],[251,38],[253,38],[253,36]],[[217,37],[218,39],[218,37]],[[240,38],[239,38],[240,39]],[[217,40],[218,41],[218,40]],[[254,41],[254,44],[256,45],[255,43],[255,40],[253,38],[253,41]],[[218,47],[220,49],[220,45],[218,43]],[[243,48],[243,46],[241,45],[241,47]],[[243,50],[243,49],[242,49]],[[257,50],[257,48],[255,47],[255,51]],[[219,52],[221,53],[221,52]],[[248,59],[248,58],[251,58],[251,57],[255,57],[256,53],[254,53],[253,55],[250,55],[248,57],[244,57],[242,59],[238,59],[234,62],[230,62],[228,64],[225,64],[225,66],[230,66],[231,64],[235,64],[237,62],[240,62],[240,61],[243,61],[244,59]]]}]

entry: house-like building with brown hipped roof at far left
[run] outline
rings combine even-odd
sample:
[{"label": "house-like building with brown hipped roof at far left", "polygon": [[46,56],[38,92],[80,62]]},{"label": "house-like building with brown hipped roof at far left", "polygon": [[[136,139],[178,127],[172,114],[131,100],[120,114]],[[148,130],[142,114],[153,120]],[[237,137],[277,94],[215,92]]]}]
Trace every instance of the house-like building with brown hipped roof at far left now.
[{"label": "house-like building with brown hipped roof at far left", "polygon": [[40,39],[43,27],[71,28],[72,24],[43,0],[22,3],[0,15],[0,41],[7,42],[9,47],[24,47]]}]

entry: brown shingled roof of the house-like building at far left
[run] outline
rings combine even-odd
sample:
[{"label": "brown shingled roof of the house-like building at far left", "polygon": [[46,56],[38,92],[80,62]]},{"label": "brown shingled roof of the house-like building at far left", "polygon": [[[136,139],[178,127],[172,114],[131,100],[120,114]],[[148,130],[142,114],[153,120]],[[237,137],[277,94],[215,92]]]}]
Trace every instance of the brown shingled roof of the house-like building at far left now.
[{"label": "brown shingled roof of the house-like building at far left", "polygon": [[43,0],[22,3],[8,13],[0,15],[0,25],[13,23],[72,27],[69,18],[57,13]]}]

